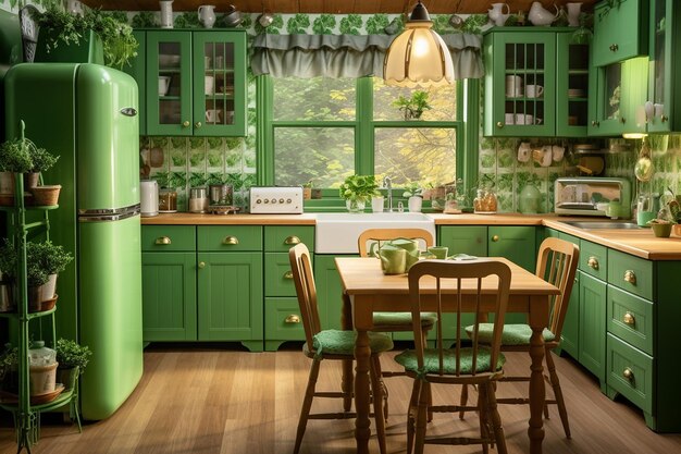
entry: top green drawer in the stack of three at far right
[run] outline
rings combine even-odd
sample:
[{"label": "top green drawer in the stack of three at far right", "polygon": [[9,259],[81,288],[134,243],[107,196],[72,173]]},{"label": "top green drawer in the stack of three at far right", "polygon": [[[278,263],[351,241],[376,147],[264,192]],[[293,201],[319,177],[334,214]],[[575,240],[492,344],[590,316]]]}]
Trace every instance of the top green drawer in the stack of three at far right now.
[{"label": "top green drawer in the stack of three at far right", "polygon": [[653,262],[610,249],[608,283],[643,298],[653,299]]}]

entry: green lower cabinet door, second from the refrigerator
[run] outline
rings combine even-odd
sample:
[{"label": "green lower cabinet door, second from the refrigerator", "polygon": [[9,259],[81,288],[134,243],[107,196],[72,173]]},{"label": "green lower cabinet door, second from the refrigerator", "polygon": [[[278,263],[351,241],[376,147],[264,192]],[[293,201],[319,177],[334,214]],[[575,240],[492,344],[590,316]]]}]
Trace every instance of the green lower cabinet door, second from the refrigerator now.
[{"label": "green lower cabinet door, second from the refrigerator", "polygon": [[262,253],[199,253],[197,281],[199,341],[261,351]]}]

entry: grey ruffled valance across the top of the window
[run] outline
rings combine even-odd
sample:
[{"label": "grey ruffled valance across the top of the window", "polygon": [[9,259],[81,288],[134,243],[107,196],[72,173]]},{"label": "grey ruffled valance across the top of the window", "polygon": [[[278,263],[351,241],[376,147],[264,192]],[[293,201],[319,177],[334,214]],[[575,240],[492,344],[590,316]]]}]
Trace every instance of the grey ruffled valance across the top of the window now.
[{"label": "grey ruffled valance across the top of the window", "polygon": [[[457,79],[484,75],[482,37],[442,35],[451,52]],[[253,42],[255,75],[275,77],[362,77],[383,75],[388,35],[258,35]]]}]

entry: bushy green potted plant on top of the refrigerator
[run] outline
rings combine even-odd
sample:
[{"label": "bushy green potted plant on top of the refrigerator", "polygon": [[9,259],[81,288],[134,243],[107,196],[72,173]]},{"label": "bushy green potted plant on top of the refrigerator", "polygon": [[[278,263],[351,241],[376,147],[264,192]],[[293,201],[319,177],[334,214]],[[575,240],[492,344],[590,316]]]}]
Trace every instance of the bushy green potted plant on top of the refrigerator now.
[{"label": "bushy green potted plant on top of the refrigerator", "polygon": [[89,10],[83,15],[72,14],[61,2],[54,2],[45,12],[36,12],[34,19],[40,27],[37,60],[103,62],[122,69],[137,56],[132,27],[110,13]]}]

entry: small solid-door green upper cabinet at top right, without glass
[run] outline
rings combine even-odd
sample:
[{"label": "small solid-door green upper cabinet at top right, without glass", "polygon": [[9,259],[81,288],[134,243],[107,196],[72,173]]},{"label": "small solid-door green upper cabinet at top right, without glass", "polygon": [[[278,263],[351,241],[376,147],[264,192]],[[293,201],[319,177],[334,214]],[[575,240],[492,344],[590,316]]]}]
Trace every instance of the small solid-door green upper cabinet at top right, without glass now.
[{"label": "small solid-door green upper cabinet at top right, without glass", "polygon": [[607,66],[647,52],[647,0],[608,0],[594,8],[593,64]]}]

